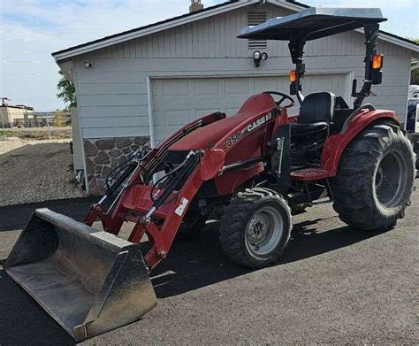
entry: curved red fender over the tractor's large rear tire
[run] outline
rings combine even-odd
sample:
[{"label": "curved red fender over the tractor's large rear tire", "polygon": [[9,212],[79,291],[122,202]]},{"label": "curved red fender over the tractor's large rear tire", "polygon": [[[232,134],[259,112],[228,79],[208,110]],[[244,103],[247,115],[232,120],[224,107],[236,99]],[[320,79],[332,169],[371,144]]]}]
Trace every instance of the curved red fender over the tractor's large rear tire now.
[{"label": "curved red fender over the tractor's large rear tire", "polygon": [[331,135],[324,144],[322,155],[322,168],[328,172],[329,177],[338,173],[339,161],[347,145],[359,135],[363,129],[376,121],[387,120],[400,126],[395,111],[383,111],[369,109],[362,110],[348,124],[347,128],[338,135]]}]

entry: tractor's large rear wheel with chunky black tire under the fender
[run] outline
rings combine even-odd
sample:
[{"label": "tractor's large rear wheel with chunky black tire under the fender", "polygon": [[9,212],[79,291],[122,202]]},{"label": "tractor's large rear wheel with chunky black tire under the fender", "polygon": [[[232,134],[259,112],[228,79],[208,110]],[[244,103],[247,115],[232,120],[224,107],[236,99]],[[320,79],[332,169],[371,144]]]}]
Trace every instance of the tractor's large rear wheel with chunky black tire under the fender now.
[{"label": "tractor's large rear wheel with chunky black tire under the fender", "polygon": [[384,231],[404,217],[414,189],[415,158],[395,124],[368,127],[342,155],[332,181],[333,208],[347,225]]}]

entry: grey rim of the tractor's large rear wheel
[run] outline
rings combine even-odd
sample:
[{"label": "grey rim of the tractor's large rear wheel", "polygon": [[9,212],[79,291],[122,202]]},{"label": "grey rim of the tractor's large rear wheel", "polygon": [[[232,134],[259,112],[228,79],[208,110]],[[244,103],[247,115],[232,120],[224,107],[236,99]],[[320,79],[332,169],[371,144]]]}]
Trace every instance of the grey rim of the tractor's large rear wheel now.
[{"label": "grey rim of the tractor's large rear wheel", "polygon": [[385,154],[377,166],[374,190],[380,204],[393,208],[400,204],[407,181],[407,165],[402,153]]}]

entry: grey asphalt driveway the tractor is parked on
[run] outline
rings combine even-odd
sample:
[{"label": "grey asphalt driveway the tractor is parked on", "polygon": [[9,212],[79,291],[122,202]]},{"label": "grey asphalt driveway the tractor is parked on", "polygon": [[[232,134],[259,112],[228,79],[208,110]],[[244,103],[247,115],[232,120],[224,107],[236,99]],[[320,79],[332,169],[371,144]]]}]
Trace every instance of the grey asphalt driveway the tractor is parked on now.
[{"label": "grey asphalt driveway the tractor is parked on", "polygon": [[[60,203],[53,209],[83,219],[91,201]],[[8,208],[3,256],[34,205]],[[281,262],[258,271],[230,263],[209,224],[196,242],[175,242],[153,272],[153,311],[86,344],[417,344],[418,211],[416,191],[406,218],[379,234],[316,206],[294,218]],[[1,345],[73,343],[4,271],[0,292]]]}]

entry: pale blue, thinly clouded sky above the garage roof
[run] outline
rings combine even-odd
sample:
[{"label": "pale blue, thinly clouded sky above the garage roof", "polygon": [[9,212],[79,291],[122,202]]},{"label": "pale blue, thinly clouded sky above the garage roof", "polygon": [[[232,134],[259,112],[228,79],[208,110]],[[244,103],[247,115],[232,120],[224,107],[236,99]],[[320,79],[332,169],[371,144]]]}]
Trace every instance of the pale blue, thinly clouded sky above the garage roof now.
[{"label": "pale blue, thinly clouded sky above the garage roof", "polygon": [[[205,6],[225,0],[202,0]],[[419,0],[301,0],[323,7],[381,7],[382,29],[419,36]],[[35,111],[64,108],[51,53],[188,12],[189,0],[0,0],[0,97]]]}]

